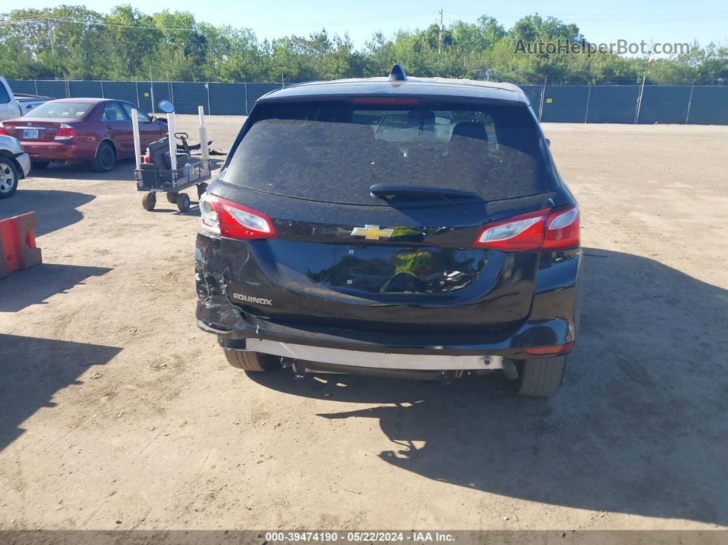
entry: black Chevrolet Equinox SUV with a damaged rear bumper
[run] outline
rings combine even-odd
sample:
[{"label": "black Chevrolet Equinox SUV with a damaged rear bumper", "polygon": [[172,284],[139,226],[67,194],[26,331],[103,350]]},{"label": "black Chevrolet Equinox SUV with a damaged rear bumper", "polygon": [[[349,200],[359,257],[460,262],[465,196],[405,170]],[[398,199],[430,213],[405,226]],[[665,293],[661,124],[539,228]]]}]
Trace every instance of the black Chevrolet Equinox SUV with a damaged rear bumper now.
[{"label": "black Chevrolet Equinox SUV with a damaged rear bumper", "polygon": [[561,384],[579,210],[515,85],[395,65],[271,92],[200,211],[198,325],[234,367]]}]

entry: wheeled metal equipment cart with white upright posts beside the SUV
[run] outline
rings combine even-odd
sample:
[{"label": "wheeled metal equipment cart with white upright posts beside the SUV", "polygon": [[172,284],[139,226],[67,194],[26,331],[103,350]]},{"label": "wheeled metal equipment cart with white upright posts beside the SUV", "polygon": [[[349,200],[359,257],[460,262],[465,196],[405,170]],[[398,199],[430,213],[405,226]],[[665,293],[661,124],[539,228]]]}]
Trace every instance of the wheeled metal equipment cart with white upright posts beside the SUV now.
[{"label": "wheeled metal equipment cart with white upright posts beside the SUV", "polygon": [[[144,210],[154,210],[157,205],[157,193],[167,194],[167,201],[177,204],[177,210],[189,210],[189,195],[181,193],[186,188],[197,186],[197,196],[205,193],[206,180],[210,179],[210,151],[207,148],[207,128],[205,127],[205,111],[198,107],[199,113],[199,142],[201,159],[192,159],[190,155],[178,156],[175,134],[175,107],[169,100],[161,100],[159,109],[167,114],[167,140],[169,140],[169,165],[166,160],[162,163],[152,164],[141,162],[141,140],[139,136],[139,120],[136,110],[132,111],[132,127],[134,130],[134,151],[136,156],[136,169],[134,179],[137,191],[145,191],[142,198]],[[162,142],[162,140],[159,140]],[[184,164],[178,167],[178,161]],[[165,168],[167,167],[168,168]]]}]

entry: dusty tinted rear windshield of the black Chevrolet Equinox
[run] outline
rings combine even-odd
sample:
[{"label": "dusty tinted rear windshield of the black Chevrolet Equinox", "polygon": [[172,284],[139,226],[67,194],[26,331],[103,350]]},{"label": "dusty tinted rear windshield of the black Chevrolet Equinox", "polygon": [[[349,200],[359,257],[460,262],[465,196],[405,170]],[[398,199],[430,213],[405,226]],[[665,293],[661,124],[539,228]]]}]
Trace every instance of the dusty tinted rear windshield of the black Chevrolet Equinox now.
[{"label": "dusty tinted rear windshield of the black Chevrolet Equinox", "polygon": [[259,104],[224,179],[272,194],[381,204],[375,183],[456,189],[486,201],[550,191],[525,106]]}]

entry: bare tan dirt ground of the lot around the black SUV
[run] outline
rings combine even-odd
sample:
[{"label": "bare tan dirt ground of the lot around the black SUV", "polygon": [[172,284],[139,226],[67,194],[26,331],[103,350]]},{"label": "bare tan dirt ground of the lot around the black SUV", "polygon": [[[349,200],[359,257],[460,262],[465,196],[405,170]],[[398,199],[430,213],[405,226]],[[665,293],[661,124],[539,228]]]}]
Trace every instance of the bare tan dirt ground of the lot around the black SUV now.
[{"label": "bare tan dirt ground of the lot around the black SUV", "polygon": [[0,217],[36,210],[44,264],[0,281],[0,528],[727,527],[728,127],[545,132],[586,253],[549,400],[247,376],[195,327],[194,207],[142,210],[130,161],[23,180]]}]

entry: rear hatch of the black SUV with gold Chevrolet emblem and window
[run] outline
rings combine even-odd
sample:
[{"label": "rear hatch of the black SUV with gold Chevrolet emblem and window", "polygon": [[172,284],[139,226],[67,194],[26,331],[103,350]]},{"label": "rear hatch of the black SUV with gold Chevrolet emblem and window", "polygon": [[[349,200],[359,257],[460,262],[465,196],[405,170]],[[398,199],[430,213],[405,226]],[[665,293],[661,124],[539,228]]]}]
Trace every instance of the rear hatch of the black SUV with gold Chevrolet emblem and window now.
[{"label": "rear hatch of the black SUV with gold Chevrolet emblem and window", "polygon": [[256,106],[213,192],[265,212],[276,237],[223,242],[229,298],[258,317],[333,327],[526,318],[539,253],[475,241],[486,222],[553,204],[533,114],[518,103],[384,102]]}]

